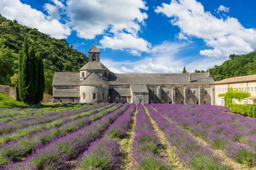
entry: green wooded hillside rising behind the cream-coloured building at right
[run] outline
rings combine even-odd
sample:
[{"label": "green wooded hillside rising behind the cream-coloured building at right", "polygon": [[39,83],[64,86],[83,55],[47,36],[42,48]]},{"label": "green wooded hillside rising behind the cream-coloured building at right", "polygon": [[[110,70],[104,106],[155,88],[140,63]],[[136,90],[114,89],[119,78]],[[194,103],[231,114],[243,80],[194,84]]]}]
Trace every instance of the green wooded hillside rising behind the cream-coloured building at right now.
[{"label": "green wooded hillside rising behind the cream-coloured building at right", "polygon": [[237,77],[243,75],[256,74],[256,51],[249,54],[229,56],[229,60],[222,65],[215,65],[210,69],[210,73],[215,81],[224,78]]}]

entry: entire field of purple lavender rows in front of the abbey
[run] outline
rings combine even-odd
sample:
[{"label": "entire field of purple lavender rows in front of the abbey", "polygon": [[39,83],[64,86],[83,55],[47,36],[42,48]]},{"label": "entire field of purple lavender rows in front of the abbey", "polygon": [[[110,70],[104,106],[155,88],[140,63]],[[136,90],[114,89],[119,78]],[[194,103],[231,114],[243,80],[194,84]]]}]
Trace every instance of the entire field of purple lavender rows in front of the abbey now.
[{"label": "entire field of purple lavender rows in front of the abbey", "polygon": [[256,119],[210,105],[1,110],[0,170],[256,169]]}]

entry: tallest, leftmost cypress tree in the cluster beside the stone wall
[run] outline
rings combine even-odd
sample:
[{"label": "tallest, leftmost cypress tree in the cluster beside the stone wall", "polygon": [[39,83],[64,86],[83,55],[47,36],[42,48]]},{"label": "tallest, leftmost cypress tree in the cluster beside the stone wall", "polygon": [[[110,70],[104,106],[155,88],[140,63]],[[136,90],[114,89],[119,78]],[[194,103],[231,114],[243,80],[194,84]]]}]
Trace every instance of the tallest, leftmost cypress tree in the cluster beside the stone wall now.
[{"label": "tallest, leftmost cypress tree in the cluster beside the stone wall", "polygon": [[26,66],[28,65],[28,37],[25,37],[23,47],[20,50],[19,56],[19,97],[22,102],[27,102],[28,87],[27,85],[27,73]]}]

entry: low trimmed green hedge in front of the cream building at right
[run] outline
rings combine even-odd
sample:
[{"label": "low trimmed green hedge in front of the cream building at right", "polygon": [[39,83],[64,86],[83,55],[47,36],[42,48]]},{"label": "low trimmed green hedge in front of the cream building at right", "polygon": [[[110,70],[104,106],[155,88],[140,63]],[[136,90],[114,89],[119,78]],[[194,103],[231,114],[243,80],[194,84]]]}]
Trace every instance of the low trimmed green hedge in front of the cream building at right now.
[{"label": "low trimmed green hedge in front of the cream building at right", "polygon": [[230,112],[239,113],[248,117],[256,117],[256,105],[229,104]]}]

